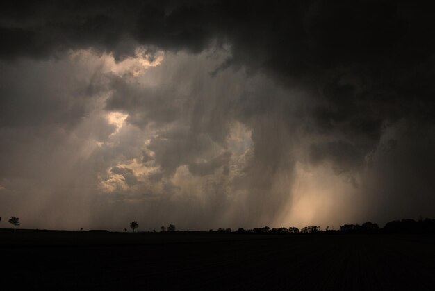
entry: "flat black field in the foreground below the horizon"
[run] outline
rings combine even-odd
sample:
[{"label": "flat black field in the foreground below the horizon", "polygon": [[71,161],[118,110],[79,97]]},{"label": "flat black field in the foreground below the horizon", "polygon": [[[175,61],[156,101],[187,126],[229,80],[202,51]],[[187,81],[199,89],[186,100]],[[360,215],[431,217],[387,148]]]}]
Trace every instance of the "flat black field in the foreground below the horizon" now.
[{"label": "flat black field in the foreground below the horizon", "polygon": [[435,290],[434,235],[0,230],[0,249],[10,290]]}]

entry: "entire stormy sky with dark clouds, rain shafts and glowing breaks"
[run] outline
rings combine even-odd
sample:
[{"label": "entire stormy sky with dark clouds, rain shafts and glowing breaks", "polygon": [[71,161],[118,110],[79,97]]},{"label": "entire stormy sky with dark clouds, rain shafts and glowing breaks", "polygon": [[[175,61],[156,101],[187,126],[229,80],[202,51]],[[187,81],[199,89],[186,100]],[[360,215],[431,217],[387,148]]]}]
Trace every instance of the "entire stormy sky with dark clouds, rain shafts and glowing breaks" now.
[{"label": "entire stormy sky with dark clouds, rain shafts and glowing breaks", "polygon": [[435,13],[416,1],[0,15],[0,216],[23,228],[435,216]]}]

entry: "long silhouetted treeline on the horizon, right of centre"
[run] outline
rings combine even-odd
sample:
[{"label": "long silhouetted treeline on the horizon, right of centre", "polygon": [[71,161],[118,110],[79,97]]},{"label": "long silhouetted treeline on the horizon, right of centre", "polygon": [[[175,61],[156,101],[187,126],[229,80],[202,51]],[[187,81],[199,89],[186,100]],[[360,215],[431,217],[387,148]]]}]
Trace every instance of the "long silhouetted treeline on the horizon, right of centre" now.
[{"label": "long silhouetted treeline on the horizon, right of centre", "polygon": [[305,226],[299,228],[291,226],[289,228],[270,228],[268,226],[262,228],[238,228],[236,231],[231,231],[231,228],[218,228],[216,231],[211,229],[210,232],[218,233],[268,233],[268,234],[285,234],[285,233],[434,233],[435,234],[435,219],[413,220],[402,219],[388,222],[384,228],[379,228],[376,223],[366,222],[364,224],[344,224],[338,230],[329,229],[322,230],[320,226]]}]

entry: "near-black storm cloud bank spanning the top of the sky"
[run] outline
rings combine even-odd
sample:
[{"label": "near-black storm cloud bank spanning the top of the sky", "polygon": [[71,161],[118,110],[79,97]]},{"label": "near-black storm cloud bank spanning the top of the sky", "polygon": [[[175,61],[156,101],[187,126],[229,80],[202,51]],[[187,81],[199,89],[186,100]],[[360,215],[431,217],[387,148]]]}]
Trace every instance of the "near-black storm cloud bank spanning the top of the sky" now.
[{"label": "near-black storm cloud bank spanning the top of the sky", "polygon": [[[322,100],[314,115],[322,128],[347,121],[350,131],[369,130],[369,137],[376,139],[384,117],[432,112],[435,17],[419,3],[128,4],[8,4],[2,10],[5,41],[0,56],[38,58],[86,47],[118,55],[131,39],[132,47],[138,42],[199,52],[217,40],[231,44],[228,65],[264,69],[286,83],[297,81],[313,90]],[[422,101],[428,104],[422,106]]]}]

